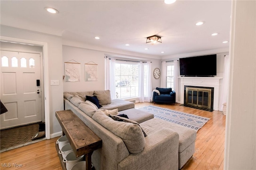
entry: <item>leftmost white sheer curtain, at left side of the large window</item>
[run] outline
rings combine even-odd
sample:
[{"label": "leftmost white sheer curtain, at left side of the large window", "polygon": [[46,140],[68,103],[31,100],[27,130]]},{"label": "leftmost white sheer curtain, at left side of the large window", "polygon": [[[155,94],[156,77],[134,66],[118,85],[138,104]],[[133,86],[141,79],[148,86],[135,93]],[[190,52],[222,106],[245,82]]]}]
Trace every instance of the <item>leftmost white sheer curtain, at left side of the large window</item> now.
[{"label": "leftmost white sheer curtain, at left side of the large window", "polygon": [[110,90],[111,99],[116,99],[115,59],[105,57],[105,89]]}]

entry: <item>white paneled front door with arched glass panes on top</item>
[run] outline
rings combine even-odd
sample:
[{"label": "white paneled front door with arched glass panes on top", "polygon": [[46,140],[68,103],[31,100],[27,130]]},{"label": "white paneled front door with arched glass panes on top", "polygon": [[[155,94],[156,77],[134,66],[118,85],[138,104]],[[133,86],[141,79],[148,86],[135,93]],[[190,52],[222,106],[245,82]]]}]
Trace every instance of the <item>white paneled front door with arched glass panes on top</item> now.
[{"label": "white paneled front door with arched glass panes on top", "polygon": [[40,54],[1,50],[0,55],[0,99],[8,110],[0,115],[0,128],[42,121]]}]

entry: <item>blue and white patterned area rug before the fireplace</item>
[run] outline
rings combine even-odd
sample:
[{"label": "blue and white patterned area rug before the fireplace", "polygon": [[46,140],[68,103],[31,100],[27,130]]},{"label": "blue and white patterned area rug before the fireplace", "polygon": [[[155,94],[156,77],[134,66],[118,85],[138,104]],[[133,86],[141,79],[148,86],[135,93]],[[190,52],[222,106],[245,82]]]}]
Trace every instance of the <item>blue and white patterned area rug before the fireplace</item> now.
[{"label": "blue and white patterned area rug before the fireplace", "polygon": [[151,105],[142,107],[139,110],[152,113],[156,118],[163,119],[172,123],[176,123],[184,127],[192,128],[196,131],[202,128],[206,124],[206,122],[210,120],[210,118],[192,115],[188,113],[182,113],[182,112],[173,111],[170,109],[164,109],[161,107],[156,107]]}]

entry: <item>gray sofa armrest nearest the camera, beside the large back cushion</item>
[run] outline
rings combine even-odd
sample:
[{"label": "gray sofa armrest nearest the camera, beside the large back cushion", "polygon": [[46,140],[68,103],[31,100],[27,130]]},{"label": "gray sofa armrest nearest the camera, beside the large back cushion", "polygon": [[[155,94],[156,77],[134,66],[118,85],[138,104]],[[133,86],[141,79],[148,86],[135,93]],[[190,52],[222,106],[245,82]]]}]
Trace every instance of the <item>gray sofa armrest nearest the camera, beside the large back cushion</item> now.
[{"label": "gray sofa armrest nearest the camera, beside the large back cushion", "polygon": [[118,164],[118,170],[178,170],[179,135],[162,128],[145,137],[146,146],[138,154],[130,154]]}]

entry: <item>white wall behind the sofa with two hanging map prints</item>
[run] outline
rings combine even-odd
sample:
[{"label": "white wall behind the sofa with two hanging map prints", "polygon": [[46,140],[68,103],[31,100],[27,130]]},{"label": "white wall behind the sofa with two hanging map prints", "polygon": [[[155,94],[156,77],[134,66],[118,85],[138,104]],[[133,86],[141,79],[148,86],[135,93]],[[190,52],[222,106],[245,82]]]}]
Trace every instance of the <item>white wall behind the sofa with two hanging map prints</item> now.
[{"label": "white wall behind the sofa with two hanging map prints", "polygon": [[[109,56],[108,52],[97,51],[94,49],[86,49],[82,47],[74,47],[69,45],[63,45],[62,51],[63,51],[62,52],[63,53],[63,75],[65,73],[64,62],[77,61],[78,63],[81,64],[81,77],[80,77],[81,81],[65,82],[64,80],[64,91],[68,91],[68,92],[81,91],[82,92],[82,91],[104,90],[105,88],[104,56]],[[112,58],[111,56],[113,56],[113,53],[110,55],[110,58]],[[123,56],[125,56],[125,54],[123,54]],[[131,56],[129,55],[129,57]],[[125,58],[120,58],[120,59],[125,59]],[[139,61],[139,59],[130,59],[130,58],[127,58],[127,60]],[[98,64],[98,81],[85,81],[84,64],[90,61]],[[152,62],[152,72],[155,67],[160,68],[160,60],[158,59],[149,59],[149,60],[143,60],[143,61]],[[151,79],[152,79],[152,89],[159,87],[160,79],[154,79],[153,76],[151,77]]]}]

